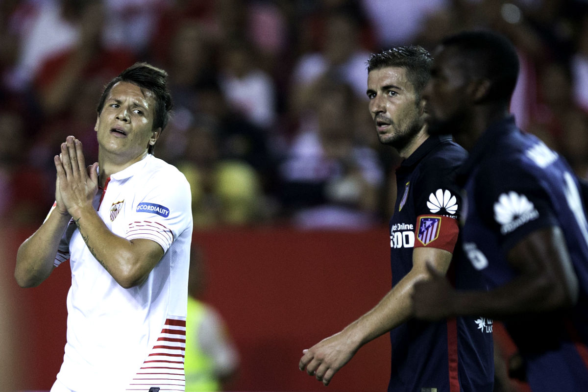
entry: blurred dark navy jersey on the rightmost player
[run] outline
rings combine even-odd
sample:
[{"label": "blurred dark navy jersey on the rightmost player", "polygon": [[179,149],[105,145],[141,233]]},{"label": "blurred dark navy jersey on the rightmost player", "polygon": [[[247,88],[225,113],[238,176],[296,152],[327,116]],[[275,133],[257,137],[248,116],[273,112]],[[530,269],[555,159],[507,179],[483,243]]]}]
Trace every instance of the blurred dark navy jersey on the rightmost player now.
[{"label": "blurred dark navy jersey on the rightmost player", "polygon": [[524,236],[558,226],[580,284],[570,311],[520,316],[506,329],[527,360],[533,392],[588,388],[588,224],[579,183],[566,162],[543,142],[496,123],[459,170],[465,184],[463,249],[490,288],[516,276],[507,252]]}]

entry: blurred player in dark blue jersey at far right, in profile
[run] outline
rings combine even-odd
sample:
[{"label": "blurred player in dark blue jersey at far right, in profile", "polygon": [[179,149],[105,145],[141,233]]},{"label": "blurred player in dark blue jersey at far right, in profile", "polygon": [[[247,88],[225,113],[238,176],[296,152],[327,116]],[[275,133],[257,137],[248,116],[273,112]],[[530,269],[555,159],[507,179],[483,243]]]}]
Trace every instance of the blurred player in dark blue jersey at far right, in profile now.
[{"label": "blurred player in dark blue jersey at far right, in profile", "polygon": [[505,321],[533,392],[588,388],[588,223],[566,162],[509,114],[518,59],[506,38],[463,32],[442,41],[425,96],[432,132],[470,152],[463,249],[491,290],[453,290],[431,268],[415,285],[416,316],[484,314]]}]

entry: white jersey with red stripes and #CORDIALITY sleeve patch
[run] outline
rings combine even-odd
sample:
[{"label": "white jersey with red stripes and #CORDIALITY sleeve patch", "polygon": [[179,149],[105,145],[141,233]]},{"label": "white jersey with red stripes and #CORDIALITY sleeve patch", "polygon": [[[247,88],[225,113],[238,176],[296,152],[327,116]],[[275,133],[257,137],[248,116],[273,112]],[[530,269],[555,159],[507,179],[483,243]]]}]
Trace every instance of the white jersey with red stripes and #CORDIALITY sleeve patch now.
[{"label": "white jersey with red stripes and #CORDIALITY sleeve patch", "polygon": [[165,254],[145,282],[124,289],[70,222],[55,259],[56,265],[69,259],[72,271],[67,343],[57,378],[73,391],[183,391],[192,239],[188,182],[175,167],[148,155],[113,174],[95,207],[113,233],[153,240]]}]

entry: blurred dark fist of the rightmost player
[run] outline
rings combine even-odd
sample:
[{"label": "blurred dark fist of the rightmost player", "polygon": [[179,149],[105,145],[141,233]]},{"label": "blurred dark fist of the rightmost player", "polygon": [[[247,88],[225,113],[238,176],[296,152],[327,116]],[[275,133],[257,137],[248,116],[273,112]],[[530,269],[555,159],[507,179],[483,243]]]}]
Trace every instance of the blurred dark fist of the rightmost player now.
[{"label": "blurred dark fist of the rightmost player", "polygon": [[427,263],[429,277],[416,282],[412,292],[412,310],[420,320],[442,320],[451,317],[451,307],[455,289],[445,275]]}]

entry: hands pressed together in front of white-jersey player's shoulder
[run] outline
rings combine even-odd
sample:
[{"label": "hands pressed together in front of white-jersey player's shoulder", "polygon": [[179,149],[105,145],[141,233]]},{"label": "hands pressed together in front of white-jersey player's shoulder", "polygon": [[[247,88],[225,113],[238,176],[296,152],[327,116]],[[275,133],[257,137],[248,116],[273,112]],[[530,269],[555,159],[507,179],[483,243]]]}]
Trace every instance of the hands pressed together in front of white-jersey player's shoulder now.
[{"label": "hands pressed together in front of white-jersey player's shoulder", "polygon": [[68,136],[61,144],[61,153],[54,157],[54,163],[57,170],[55,199],[60,212],[65,209],[74,216],[82,207],[91,206],[98,192],[98,163],[86,167],[82,142]]}]

